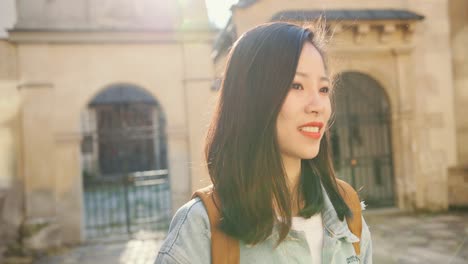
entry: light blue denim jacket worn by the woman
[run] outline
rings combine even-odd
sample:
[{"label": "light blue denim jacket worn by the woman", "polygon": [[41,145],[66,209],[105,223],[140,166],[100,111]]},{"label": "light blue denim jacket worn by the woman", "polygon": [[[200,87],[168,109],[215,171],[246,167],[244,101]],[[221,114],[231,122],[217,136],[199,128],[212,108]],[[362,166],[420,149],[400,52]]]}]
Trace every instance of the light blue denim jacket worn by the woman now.
[{"label": "light blue denim jacket worn by the woman", "polygon": [[[348,228],[346,220],[340,221],[333,205],[324,193],[322,263],[354,264],[372,263],[372,242],[364,219],[360,240],[361,254],[356,255],[353,242],[359,241]],[[203,202],[192,199],[182,206],[172,219],[169,233],[163,242],[156,264],[210,264],[210,222]],[[278,232],[265,241],[246,245],[240,241],[240,263],[310,263],[311,256],[305,234],[291,230],[286,239],[275,248]]]}]

